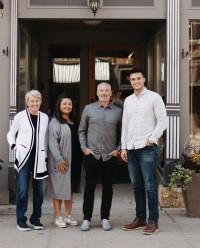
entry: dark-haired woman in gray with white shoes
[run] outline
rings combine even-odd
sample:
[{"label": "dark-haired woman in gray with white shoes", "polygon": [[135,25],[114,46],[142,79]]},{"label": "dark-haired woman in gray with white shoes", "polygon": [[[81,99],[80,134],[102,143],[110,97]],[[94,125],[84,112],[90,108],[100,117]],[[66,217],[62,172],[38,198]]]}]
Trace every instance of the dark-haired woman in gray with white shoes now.
[{"label": "dark-haired woman in gray with white shoes", "polygon": [[[55,117],[49,124],[49,174],[55,211],[54,223],[57,227],[77,225],[77,221],[71,217],[74,192],[71,182],[72,140],[76,138],[72,137],[72,126],[74,126],[72,99],[62,95],[56,104]],[[65,209],[64,218],[61,215],[62,201]]]}]

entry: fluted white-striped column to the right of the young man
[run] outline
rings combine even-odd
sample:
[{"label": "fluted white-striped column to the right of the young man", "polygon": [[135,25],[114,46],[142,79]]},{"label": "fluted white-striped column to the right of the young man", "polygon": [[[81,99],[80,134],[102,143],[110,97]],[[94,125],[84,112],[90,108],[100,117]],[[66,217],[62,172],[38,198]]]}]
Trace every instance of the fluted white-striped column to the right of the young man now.
[{"label": "fluted white-striped column to the right of the young man", "polygon": [[178,159],[180,135],[179,24],[180,0],[167,1],[167,114],[166,159]]}]

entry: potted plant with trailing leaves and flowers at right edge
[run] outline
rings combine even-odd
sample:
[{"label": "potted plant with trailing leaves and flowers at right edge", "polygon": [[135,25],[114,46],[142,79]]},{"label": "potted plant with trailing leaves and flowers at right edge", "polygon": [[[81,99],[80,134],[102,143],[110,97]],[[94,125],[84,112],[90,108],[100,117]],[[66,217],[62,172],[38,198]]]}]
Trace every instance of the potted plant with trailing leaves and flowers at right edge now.
[{"label": "potted plant with trailing leaves and flowers at right edge", "polygon": [[170,176],[169,191],[181,187],[187,214],[200,217],[200,140],[191,139]]}]

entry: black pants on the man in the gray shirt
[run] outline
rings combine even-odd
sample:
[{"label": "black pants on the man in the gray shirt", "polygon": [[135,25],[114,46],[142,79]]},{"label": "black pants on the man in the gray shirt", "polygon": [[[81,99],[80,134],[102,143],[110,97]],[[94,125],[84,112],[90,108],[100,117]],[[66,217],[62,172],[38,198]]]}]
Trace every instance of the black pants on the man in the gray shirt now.
[{"label": "black pants on the man in the gray shirt", "polygon": [[85,156],[84,165],[86,172],[83,214],[85,220],[91,220],[94,207],[94,191],[99,172],[102,179],[101,219],[109,219],[113,196],[113,173],[116,158],[103,162],[92,155]]}]

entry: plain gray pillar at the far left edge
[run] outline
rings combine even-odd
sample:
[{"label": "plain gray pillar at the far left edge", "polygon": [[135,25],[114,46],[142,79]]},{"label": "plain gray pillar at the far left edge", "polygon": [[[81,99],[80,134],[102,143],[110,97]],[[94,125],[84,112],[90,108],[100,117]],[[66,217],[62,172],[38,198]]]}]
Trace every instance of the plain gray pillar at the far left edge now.
[{"label": "plain gray pillar at the far left edge", "polygon": [[9,80],[10,80],[10,18],[11,1],[1,1],[3,9],[0,11],[0,204],[9,203],[8,192],[8,143],[6,134],[9,123]]}]

